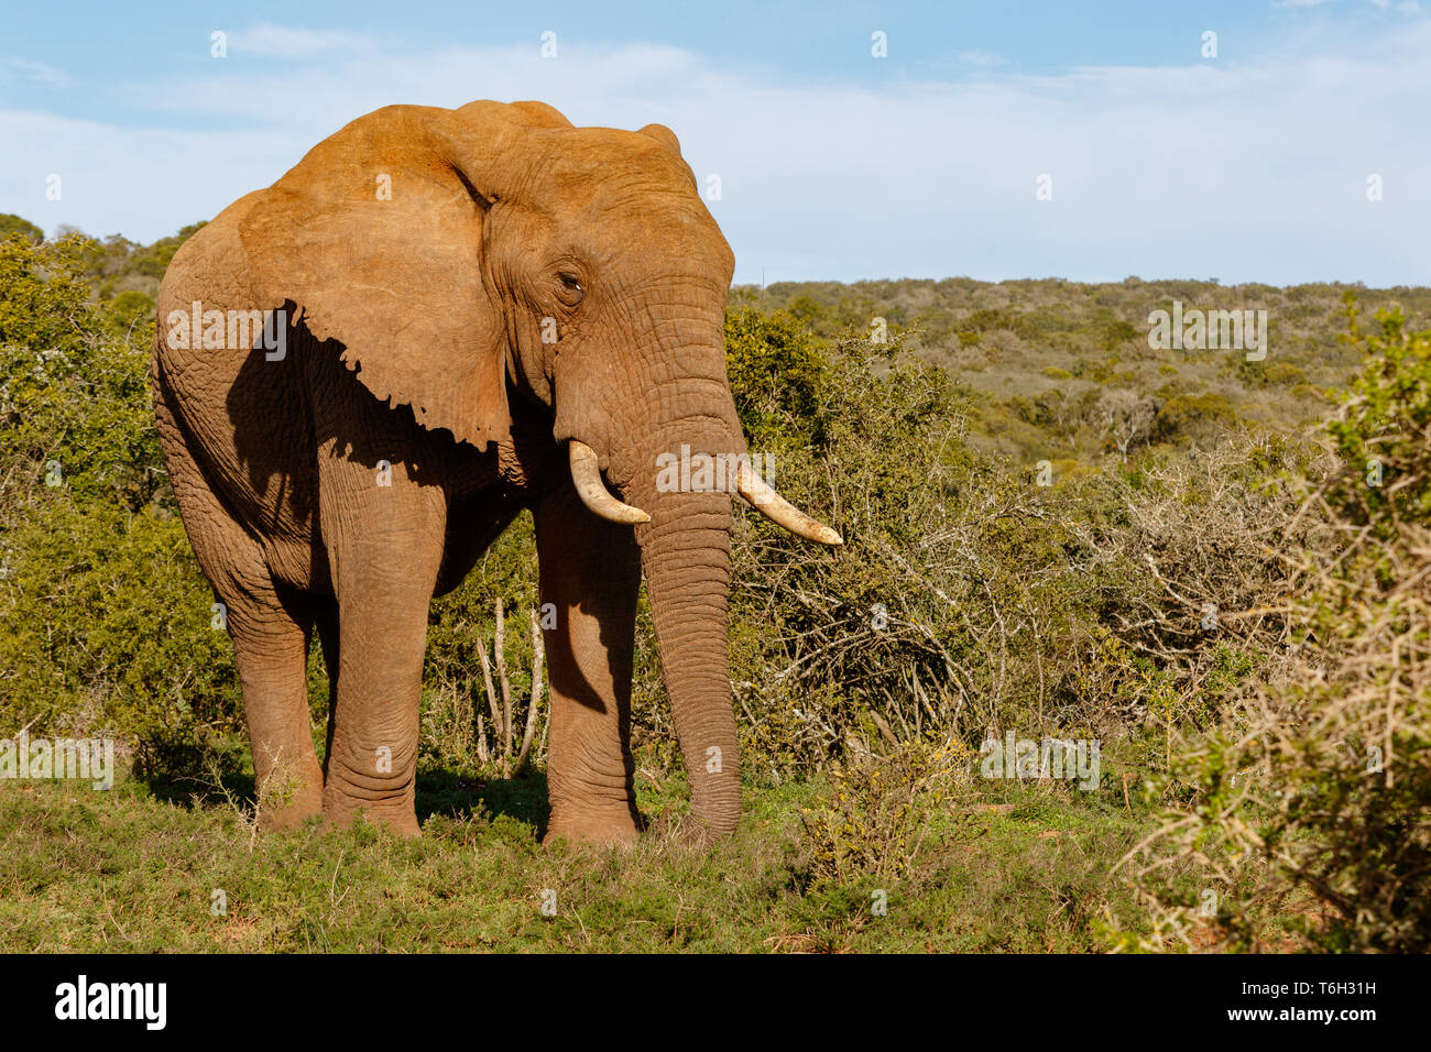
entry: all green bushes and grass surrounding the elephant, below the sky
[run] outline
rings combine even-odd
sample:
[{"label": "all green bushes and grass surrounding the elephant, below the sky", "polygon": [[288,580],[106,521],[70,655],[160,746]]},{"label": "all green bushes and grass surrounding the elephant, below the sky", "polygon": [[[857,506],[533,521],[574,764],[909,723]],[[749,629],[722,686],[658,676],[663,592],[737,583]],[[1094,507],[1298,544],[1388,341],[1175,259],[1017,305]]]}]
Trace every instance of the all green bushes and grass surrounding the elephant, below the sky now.
[{"label": "all green bushes and grass surrounding the elephant, below the sky", "polygon": [[[750,822],[711,865],[678,843],[684,784],[643,617],[653,836],[581,867],[534,846],[539,730],[517,771],[499,726],[505,694],[521,739],[532,694],[527,520],[434,604],[431,837],[252,837],[263,802],[245,794],[232,651],[149,409],[153,293],[195,229],[43,242],[0,218],[0,737],[112,734],[137,776],[73,804],[0,784],[7,842],[83,844],[0,865],[4,929],[30,932],[17,945],[112,945],[83,915],[96,885],[137,920],[116,922],[135,949],[1427,945],[1431,292],[736,289],[727,356],[750,445],[847,545],[737,521]],[[1151,349],[1146,318],[1172,301],[1269,309],[1271,352]],[[1367,332],[1358,309],[1378,308]],[[321,741],[316,654],[311,668]],[[982,744],[1007,733],[1099,741],[1098,784],[983,776]],[[166,876],[173,853],[225,844],[249,854],[200,890]],[[491,900],[444,905],[478,886],[458,876],[474,847],[507,876]],[[343,857],[366,889],[348,906]],[[303,890],[308,869],[323,876]],[[382,882],[412,889],[402,916]],[[747,890],[727,909],[733,883]],[[558,885],[577,905],[547,925],[531,889]],[[219,886],[242,903],[232,920],[180,905]]]}]

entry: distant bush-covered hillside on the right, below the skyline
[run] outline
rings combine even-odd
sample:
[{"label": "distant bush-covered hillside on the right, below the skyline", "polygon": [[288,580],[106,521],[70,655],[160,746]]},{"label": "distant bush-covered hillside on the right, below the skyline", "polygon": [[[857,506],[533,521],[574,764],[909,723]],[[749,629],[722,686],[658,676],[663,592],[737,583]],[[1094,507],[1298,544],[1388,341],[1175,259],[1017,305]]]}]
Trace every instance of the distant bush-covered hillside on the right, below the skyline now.
[{"label": "distant bush-covered hillside on the right, below the skyline", "polygon": [[[1414,328],[1431,319],[1425,288],[1139,278],[781,282],[740,286],[734,301],[787,311],[823,338],[869,332],[883,318],[973,395],[975,447],[1086,462],[1110,451],[1216,441],[1229,425],[1288,429],[1321,419],[1327,392],[1347,385],[1361,364],[1338,339],[1348,292],[1367,312],[1400,306]],[[1152,349],[1148,315],[1173,302],[1188,311],[1265,309],[1266,358]]]}]

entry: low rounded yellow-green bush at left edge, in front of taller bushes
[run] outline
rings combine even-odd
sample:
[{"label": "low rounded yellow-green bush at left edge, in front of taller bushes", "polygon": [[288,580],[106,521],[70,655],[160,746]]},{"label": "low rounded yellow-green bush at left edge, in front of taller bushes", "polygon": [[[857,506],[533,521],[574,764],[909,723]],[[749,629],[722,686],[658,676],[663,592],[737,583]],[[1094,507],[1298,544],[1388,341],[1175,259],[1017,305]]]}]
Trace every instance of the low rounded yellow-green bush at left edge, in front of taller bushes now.
[{"label": "low rounded yellow-green bush at left edge, in front of taller bushes", "polygon": [[197,773],[242,727],[233,648],[172,512],[56,492],[4,544],[6,726],[120,736],[149,776]]}]

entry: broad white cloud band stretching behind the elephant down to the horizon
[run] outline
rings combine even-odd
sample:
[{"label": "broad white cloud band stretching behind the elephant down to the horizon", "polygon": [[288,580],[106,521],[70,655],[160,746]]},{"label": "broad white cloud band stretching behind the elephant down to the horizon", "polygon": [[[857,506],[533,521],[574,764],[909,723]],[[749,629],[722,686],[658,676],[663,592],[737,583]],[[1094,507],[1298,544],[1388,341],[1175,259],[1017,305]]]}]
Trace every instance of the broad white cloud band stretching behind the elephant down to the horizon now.
[{"label": "broad white cloud band stretching behind the elephant down to the horizon", "polygon": [[[335,53],[129,86],[165,125],[0,110],[0,212],[150,240],[266,186],[392,102],[542,99],[578,125],[675,129],[737,279],[1129,273],[1431,283],[1431,24],[1364,54],[1089,67],[960,83],[777,84],[684,50],[538,42]],[[236,129],[236,130],[235,130]],[[44,175],[64,176],[46,202]],[[1053,179],[1053,200],[1035,180]],[[1368,202],[1368,175],[1385,199]]]}]

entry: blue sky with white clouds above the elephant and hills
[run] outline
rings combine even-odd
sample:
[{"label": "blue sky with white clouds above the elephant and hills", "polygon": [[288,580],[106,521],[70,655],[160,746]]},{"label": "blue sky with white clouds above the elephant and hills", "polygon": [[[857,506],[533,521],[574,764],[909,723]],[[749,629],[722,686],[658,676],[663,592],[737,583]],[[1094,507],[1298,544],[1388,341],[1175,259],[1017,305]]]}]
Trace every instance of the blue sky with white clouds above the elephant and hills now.
[{"label": "blue sky with white clouds above the elephant and hills", "polygon": [[670,125],[743,282],[1431,283],[1431,3],[605,9],[11,4],[0,212],[152,240],[378,106],[542,99]]}]

